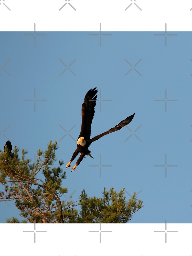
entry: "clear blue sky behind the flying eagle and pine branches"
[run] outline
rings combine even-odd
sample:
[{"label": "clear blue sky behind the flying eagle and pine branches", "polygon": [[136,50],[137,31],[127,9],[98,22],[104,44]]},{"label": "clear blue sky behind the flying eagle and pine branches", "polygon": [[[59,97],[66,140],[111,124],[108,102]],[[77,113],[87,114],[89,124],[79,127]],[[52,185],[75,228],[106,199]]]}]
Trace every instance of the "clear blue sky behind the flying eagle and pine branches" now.
[{"label": "clear blue sky behind the flying eagle and pine branches", "polygon": [[[97,87],[101,109],[98,101],[91,137],[135,112],[128,125],[132,132],[124,127],[94,142],[89,148],[94,159],[87,156],[75,172],[67,170],[67,196],[76,190],[77,200],[85,189],[99,197],[104,186],[125,187],[129,194],[142,190],[144,207],[130,223],[191,222],[191,33],[167,36],[166,47],[165,36],[155,32],[103,32],[112,36],[101,36],[101,46],[99,36],[89,36],[95,32],[37,32],[46,36],[36,36],[36,46],[34,36],[23,34],[34,33],[0,34],[0,65],[9,60],[0,70],[1,150],[8,138],[34,159],[39,148],[57,140],[57,158],[67,164],[76,142],[68,133],[61,140],[66,133],[60,126],[69,131],[76,125],[69,134],[78,138],[84,96]],[[59,59],[67,66],[64,73]],[[132,66],[141,60],[126,76],[131,66],[125,59]],[[34,90],[36,100],[46,100],[36,101],[35,111],[34,101],[24,101],[34,99]],[[165,101],[155,101],[165,100],[165,92],[167,100],[177,100],[166,101],[166,111]],[[99,167],[89,166],[100,165],[100,155],[101,165],[112,165],[101,167],[101,177]],[[165,165],[165,155],[167,177],[165,167],[155,166]],[[0,222],[22,219],[13,202],[0,204]]]}]

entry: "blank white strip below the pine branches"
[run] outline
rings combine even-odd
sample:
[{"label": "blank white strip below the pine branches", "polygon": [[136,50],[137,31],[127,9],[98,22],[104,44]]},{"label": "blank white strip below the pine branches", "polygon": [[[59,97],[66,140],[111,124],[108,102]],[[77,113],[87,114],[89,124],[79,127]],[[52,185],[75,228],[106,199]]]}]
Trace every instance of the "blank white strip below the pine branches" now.
[{"label": "blank white strip below the pine branches", "polygon": [[0,228],[2,255],[189,256],[192,253],[192,224],[167,223],[166,232],[154,232],[165,231],[164,223],[101,224],[101,231],[100,224],[36,224],[35,243],[34,232],[23,232],[34,231],[34,224],[0,224]]}]

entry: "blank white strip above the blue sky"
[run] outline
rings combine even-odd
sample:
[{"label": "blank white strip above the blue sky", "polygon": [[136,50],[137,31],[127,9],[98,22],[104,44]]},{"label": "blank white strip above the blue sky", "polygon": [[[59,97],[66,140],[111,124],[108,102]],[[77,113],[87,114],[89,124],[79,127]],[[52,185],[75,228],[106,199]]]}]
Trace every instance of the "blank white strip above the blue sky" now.
[{"label": "blank white strip above the blue sky", "polygon": [[2,1],[1,31],[33,31],[34,23],[37,31],[99,31],[100,23],[102,31],[164,31],[165,23],[167,31],[192,29],[190,0]]}]

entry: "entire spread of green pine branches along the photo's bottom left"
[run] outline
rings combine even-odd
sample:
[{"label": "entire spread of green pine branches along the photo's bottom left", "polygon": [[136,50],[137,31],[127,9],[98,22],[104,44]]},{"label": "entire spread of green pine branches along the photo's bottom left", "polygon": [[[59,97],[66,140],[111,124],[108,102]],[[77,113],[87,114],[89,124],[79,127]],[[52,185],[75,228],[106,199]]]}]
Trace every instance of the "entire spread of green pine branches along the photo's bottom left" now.
[{"label": "entire spread of green pine branches along the photo's bottom left", "polygon": [[[73,202],[71,198],[61,201],[67,193],[67,188],[62,187],[66,172],[61,168],[63,161],[59,161],[58,167],[54,166],[57,149],[57,141],[50,141],[47,150],[37,151],[35,163],[26,158],[28,152],[24,149],[19,158],[16,146],[11,154],[7,150],[0,153],[0,182],[4,185],[0,201],[14,200],[20,216],[25,218],[19,221],[13,217],[7,219],[7,223],[126,223],[143,207],[135,193],[126,201],[125,188],[117,193],[113,187],[110,191],[104,187],[102,198],[88,198],[83,190],[78,201]],[[78,205],[79,212],[75,208]]]}]

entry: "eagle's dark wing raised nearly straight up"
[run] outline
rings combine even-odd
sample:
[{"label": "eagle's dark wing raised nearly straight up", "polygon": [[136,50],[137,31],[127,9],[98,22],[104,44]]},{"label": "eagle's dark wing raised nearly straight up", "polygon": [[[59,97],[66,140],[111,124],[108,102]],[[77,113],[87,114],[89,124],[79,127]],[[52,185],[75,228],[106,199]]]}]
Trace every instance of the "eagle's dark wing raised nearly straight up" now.
[{"label": "eagle's dark wing raised nearly straight up", "polygon": [[98,90],[96,90],[96,87],[89,90],[85,95],[84,102],[82,104],[82,122],[79,138],[84,137],[85,140],[90,140],[91,137],[91,124],[95,113],[94,107],[97,100],[97,95],[95,96],[95,94],[97,94],[97,92]]}]

